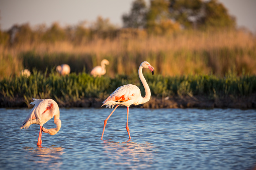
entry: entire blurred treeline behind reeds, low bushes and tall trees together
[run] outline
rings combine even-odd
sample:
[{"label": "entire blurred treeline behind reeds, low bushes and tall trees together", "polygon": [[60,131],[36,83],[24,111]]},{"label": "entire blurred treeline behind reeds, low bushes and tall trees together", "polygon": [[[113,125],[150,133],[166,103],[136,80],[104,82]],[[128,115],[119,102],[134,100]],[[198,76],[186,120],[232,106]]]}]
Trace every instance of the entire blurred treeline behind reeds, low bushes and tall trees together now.
[{"label": "entire blurred treeline behind reeds, low bushes and tall trees together", "polygon": [[95,38],[168,35],[182,29],[235,29],[236,26],[235,18],[217,0],[151,0],[148,7],[144,0],[135,0],[131,11],[122,19],[124,28],[133,29],[117,28],[102,17],[93,23],[84,21],[65,28],[58,23],[49,28],[42,24],[33,29],[29,24],[14,25],[8,31],[0,31],[0,44],[14,46],[57,41],[80,44]]}]

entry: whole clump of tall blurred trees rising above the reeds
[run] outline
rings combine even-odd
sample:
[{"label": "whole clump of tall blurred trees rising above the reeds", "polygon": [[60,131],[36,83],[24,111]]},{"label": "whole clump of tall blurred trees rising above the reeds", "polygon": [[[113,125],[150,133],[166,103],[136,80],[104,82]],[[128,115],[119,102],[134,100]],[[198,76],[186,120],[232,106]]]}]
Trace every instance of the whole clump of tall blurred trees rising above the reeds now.
[{"label": "whole clump of tall blurred trees rising above the reeds", "polygon": [[[139,16],[136,18],[136,16]],[[142,20],[143,19],[143,20]],[[144,25],[146,22],[146,25]],[[165,30],[235,28],[235,19],[229,16],[223,4],[216,0],[152,0],[147,9],[142,0],[135,0],[129,15],[123,16],[125,27],[146,28],[149,33],[163,34],[163,23],[168,23]],[[166,26],[166,24],[164,24]]]}]

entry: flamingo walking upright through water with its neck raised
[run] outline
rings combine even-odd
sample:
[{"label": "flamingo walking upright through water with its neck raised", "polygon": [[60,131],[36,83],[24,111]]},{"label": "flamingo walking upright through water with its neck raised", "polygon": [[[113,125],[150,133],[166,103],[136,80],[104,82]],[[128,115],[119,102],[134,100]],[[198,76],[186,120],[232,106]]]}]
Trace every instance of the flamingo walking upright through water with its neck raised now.
[{"label": "flamingo walking upright through water with its neck raised", "polygon": [[[141,96],[140,93],[140,89],[133,85],[133,84],[127,84],[121,87],[118,87],[104,102],[103,105],[106,105],[106,107],[115,107],[115,109],[110,113],[110,115],[107,117],[107,119],[104,121],[104,127],[103,127],[103,132],[102,132],[102,136],[101,139],[103,138],[103,134],[105,131],[105,127],[107,124],[108,119],[110,118],[110,116],[114,113],[114,111],[116,110],[116,108],[118,106],[126,106],[127,107],[127,122],[126,122],[126,130],[128,132],[129,135],[129,140],[131,139],[131,135],[130,135],[130,129],[128,127],[128,117],[129,117],[129,107],[130,105],[134,104],[134,105],[138,105],[138,104],[143,104],[149,101],[150,96],[151,96],[151,92],[149,89],[149,86],[146,82],[146,79],[144,78],[143,74],[142,74],[142,69],[143,68],[147,68],[152,72],[152,75],[154,75],[154,68],[147,62],[144,61],[140,64],[139,66],[139,78],[145,88],[145,92],[146,95],[145,97]],[[102,105],[102,106],[103,106]]]}]

